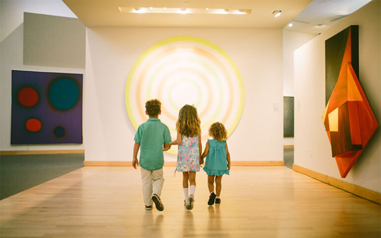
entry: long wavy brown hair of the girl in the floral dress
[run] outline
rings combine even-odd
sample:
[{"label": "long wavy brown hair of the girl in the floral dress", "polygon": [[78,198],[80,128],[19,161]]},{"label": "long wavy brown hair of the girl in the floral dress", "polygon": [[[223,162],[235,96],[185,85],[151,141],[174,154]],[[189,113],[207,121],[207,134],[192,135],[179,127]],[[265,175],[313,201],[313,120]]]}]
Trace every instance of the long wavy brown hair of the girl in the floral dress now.
[{"label": "long wavy brown hair of the girl in the floral dress", "polygon": [[201,134],[201,121],[198,118],[195,107],[186,104],[180,109],[179,119],[176,122],[176,130],[187,137],[194,137]]}]

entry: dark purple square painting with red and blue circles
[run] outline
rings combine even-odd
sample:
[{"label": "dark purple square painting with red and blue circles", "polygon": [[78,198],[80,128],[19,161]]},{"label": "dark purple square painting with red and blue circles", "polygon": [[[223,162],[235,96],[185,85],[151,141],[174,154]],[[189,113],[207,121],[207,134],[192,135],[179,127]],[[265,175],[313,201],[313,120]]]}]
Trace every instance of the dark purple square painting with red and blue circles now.
[{"label": "dark purple square painting with red and blue circles", "polygon": [[82,88],[82,74],[12,70],[10,143],[82,143]]}]

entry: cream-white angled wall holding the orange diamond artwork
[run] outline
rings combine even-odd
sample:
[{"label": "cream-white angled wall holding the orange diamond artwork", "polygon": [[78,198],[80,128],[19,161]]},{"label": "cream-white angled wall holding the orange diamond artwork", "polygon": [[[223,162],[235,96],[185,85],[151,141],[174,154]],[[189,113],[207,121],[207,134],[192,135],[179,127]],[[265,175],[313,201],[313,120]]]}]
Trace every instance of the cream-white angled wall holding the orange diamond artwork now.
[{"label": "cream-white angled wall holding the orange diamond artwork", "polygon": [[[321,119],[325,108],[325,40],[350,25],[359,25],[359,81],[381,122],[381,18],[374,0],[295,51],[294,164],[340,178]],[[381,192],[380,127],[348,176],[341,179]]]}]

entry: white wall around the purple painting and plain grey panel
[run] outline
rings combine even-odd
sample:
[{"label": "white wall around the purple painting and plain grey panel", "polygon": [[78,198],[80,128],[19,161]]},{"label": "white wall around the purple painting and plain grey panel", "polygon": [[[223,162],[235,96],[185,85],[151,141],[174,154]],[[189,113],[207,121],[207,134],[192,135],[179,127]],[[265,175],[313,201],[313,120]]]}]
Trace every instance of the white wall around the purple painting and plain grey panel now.
[{"label": "white wall around the purple painting and plain grey panel", "polygon": [[[0,1],[0,150],[83,149],[83,144],[10,145],[11,70],[84,73],[84,69],[43,67],[23,64],[24,12],[76,17],[61,0]],[[85,107],[85,105],[83,105]]]}]

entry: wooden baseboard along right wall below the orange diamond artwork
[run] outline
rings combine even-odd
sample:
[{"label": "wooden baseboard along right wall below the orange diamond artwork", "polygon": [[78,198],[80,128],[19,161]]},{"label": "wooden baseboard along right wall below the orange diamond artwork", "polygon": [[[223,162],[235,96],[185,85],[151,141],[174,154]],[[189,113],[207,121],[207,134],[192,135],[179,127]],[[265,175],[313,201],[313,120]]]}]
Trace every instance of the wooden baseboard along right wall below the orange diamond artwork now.
[{"label": "wooden baseboard along right wall below the orange diamond artwork", "polygon": [[363,197],[365,199],[381,204],[381,193],[379,192],[376,192],[376,191],[367,189],[365,187],[361,187],[361,186],[358,186],[358,185],[355,185],[340,179],[336,179],[327,175],[320,174],[316,171],[304,168],[296,164],[293,164],[292,167],[293,167],[293,170],[296,172],[307,175],[313,179],[317,179],[329,185],[338,187],[347,192],[353,193],[359,197]]}]

